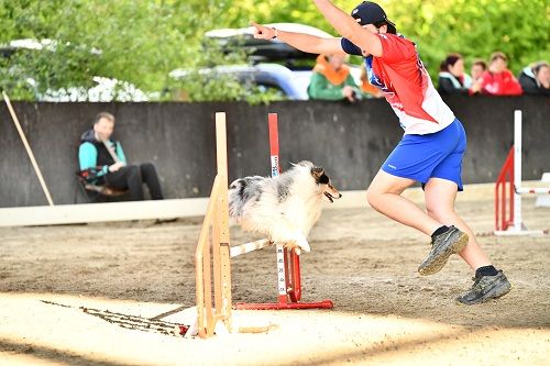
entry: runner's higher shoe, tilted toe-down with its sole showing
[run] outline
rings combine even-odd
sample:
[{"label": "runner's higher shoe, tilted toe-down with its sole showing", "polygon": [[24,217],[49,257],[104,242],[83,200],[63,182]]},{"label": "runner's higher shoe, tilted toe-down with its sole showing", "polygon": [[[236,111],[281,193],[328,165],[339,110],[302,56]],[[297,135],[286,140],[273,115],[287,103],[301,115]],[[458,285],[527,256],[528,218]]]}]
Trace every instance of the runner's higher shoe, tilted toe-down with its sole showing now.
[{"label": "runner's higher shoe, tilted toe-down with its sole showing", "polygon": [[468,244],[468,234],[454,226],[437,235],[431,241],[431,251],[428,257],[418,267],[420,275],[433,275],[441,270],[451,254],[459,253]]}]

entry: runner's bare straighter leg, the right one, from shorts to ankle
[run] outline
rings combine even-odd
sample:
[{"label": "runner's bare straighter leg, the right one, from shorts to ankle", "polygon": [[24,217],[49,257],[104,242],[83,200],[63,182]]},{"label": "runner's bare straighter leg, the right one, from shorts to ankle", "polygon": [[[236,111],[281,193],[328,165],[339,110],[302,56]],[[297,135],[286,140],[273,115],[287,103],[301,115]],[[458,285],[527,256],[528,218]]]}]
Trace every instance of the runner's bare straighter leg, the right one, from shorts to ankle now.
[{"label": "runner's bare straighter leg, the right one, from shorts to ankle", "polygon": [[430,178],[425,186],[426,210],[428,214],[446,225],[454,225],[469,236],[468,245],[459,255],[472,269],[491,265],[470,226],[454,211],[457,184],[441,178]]}]

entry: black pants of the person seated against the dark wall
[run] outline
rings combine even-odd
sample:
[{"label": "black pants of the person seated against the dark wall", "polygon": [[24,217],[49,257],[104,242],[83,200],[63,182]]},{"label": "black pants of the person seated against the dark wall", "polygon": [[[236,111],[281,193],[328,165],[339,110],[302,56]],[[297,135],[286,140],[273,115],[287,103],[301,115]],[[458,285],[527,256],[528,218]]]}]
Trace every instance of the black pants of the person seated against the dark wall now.
[{"label": "black pants of the person seated against the dark wall", "polygon": [[147,185],[151,199],[164,199],[153,164],[142,164],[139,167],[129,165],[106,176],[107,185],[117,189],[128,189],[132,201],[141,201],[143,197],[143,184]]}]

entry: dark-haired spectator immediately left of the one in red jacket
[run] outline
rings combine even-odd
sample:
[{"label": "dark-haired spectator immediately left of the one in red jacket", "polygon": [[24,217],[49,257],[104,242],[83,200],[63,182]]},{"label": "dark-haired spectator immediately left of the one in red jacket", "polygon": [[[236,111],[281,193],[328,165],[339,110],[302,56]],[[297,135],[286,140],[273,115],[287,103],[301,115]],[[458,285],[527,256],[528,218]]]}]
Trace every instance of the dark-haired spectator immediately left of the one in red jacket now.
[{"label": "dark-haired spectator immediately left of the one in red jacket", "polygon": [[464,58],[461,54],[449,54],[441,62],[439,67],[439,87],[440,95],[469,95],[472,87],[472,78],[464,73]]}]

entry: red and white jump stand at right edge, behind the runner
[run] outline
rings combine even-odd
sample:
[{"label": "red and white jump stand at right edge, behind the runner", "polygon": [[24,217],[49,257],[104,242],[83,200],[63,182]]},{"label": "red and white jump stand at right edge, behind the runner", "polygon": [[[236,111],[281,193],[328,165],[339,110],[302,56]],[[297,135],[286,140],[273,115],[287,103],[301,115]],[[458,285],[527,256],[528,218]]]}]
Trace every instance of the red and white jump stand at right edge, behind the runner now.
[{"label": "red and white jump stand at right edge, behind the runner", "polygon": [[527,230],[521,218],[521,195],[550,193],[550,188],[521,187],[521,111],[514,111],[514,146],[503,165],[495,187],[495,235],[542,235]]}]

